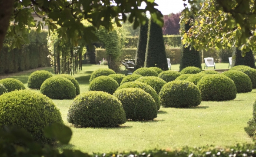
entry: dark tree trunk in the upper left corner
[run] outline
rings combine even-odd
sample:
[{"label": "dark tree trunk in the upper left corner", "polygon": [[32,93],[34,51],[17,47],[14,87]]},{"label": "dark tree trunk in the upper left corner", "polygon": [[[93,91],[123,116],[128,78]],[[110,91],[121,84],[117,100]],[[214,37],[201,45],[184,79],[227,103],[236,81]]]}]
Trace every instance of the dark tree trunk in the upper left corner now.
[{"label": "dark tree trunk in the upper left corner", "polygon": [[10,16],[13,13],[14,0],[0,0],[0,50],[3,47],[3,40],[10,25]]}]

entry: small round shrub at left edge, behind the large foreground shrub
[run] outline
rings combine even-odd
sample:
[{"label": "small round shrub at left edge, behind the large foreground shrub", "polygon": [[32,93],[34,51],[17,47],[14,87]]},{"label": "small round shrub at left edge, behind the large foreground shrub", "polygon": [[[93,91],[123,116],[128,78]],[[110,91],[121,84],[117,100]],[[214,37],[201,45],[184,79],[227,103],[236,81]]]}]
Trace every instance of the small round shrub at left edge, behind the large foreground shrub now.
[{"label": "small round shrub at left edge, behind the large foreground shrub", "polygon": [[23,83],[17,79],[12,79],[12,78],[1,79],[0,83],[7,89],[7,92],[26,89]]}]

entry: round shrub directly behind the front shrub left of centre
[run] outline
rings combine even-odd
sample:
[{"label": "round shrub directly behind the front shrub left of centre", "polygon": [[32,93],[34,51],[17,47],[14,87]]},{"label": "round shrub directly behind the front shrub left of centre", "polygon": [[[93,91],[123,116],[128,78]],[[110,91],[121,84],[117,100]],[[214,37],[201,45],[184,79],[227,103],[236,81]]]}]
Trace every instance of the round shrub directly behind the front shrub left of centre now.
[{"label": "round shrub directly behind the front shrub left of centre", "polygon": [[113,94],[116,89],[119,87],[116,80],[108,77],[108,76],[100,76],[90,83],[89,91],[103,91],[109,94]]}]

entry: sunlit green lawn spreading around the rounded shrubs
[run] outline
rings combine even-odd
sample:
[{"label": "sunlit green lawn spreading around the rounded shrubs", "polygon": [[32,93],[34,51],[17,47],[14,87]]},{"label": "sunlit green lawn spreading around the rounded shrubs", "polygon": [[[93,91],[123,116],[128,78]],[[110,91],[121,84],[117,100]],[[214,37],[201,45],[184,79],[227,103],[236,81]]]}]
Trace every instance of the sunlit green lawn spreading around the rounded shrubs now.
[{"label": "sunlit green lawn spreading around the rounded shrubs", "polygon": [[[80,84],[81,92],[88,91],[90,74],[106,67],[84,65],[83,71],[74,76]],[[27,87],[29,75],[24,73],[11,77],[21,80]],[[244,127],[252,118],[255,96],[256,89],[250,93],[237,94],[232,101],[202,101],[196,108],[160,108],[154,121],[127,121],[119,128],[74,128],[66,121],[73,100],[53,100],[60,108],[64,123],[73,131],[70,144],[58,147],[79,149],[91,154],[183,146],[252,144]]]}]

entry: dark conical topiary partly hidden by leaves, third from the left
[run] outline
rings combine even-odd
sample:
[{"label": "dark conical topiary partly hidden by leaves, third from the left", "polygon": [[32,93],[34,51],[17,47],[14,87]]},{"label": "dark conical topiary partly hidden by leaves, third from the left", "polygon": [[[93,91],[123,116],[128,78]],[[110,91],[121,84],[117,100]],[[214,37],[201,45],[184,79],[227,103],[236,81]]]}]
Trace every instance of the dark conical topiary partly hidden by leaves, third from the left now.
[{"label": "dark conical topiary partly hidden by leaves, third from the left", "polygon": [[[194,19],[193,16],[190,17],[191,20]],[[190,22],[186,23],[184,26],[186,32],[190,29]],[[194,48],[190,50],[190,46],[185,47],[185,45],[181,45],[181,56],[180,56],[180,71],[187,66],[195,66],[202,69],[201,58],[199,51],[196,51]]]}]

